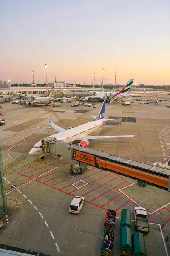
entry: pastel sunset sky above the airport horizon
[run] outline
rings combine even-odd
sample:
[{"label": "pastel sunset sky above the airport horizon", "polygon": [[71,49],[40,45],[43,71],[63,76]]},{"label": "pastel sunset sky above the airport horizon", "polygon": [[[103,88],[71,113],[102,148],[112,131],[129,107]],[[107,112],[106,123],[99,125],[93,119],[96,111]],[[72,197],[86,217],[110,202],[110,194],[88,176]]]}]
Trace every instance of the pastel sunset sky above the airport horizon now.
[{"label": "pastel sunset sky above the airport horizon", "polygon": [[0,80],[170,84],[170,0],[0,0]]}]

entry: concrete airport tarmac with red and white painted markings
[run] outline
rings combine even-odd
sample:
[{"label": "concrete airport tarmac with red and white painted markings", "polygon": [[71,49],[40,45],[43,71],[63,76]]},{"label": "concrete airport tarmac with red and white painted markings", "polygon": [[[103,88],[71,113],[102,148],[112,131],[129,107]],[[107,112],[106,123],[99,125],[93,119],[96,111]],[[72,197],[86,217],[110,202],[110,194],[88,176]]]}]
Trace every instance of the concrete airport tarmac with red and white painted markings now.
[{"label": "concrete airport tarmac with red and white painted markings", "polygon": [[[89,147],[144,163],[153,164],[157,159],[164,162],[159,133],[170,126],[170,96],[164,93],[156,96],[152,92],[141,95],[139,99],[168,100],[159,105],[140,105],[138,98],[130,97],[134,101],[130,106],[106,104],[105,118],[123,119],[103,124],[93,135],[135,134],[138,128],[139,132],[133,138],[91,140]],[[96,109],[71,108],[69,103],[58,103],[56,108],[2,105],[0,113],[6,125],[0,126],[0,143],[9,224],[0,229],[1,244],[51,256],[98,256],[106,209],[114,209],[118,217],[114,255],[118,256],[120,212],[130,209],[133,219],[133,208],[140,205],[149,212],[150,233],[144,235],[147,255],[170,255],[164,239],[170,234],[169,192],[150,185],[143,188],[136,180],[93,167],[82,175],[71,176],[70,160],[65,157],[61,160],[47,154],[44,161],[28,155],[38,140],[55,133],[48,125],[50,115],[52,122],[68,129],[93,120],[90,115],[98,115],[101,103],[96,105]],[[17,185],[15,190],[13,185]],[[85,197],[80,215],[68,212],[75,195]]]}]

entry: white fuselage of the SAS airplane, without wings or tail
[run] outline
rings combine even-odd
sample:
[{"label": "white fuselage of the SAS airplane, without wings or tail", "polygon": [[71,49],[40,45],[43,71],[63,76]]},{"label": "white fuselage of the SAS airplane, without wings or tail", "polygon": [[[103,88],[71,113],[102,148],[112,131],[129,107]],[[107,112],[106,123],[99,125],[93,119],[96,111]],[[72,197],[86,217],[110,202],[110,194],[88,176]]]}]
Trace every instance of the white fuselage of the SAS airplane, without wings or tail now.
[{"label": "white fuselage of the SAS airplane, without wings or tail", "polygon": [[[91,134],[92,132],[96,131],[102,125],[102,122],[103,120],[88,122],[86,124],[79,125],[69,130],[53,134],[51,136],[46,137],[45,139],[55,137],[56,140],[62,140],[65,143],[72,143],[75,139],[85,137],[88,134]],[[34,156],[42,156],[44,154],[42,151],[41,140],[34,145],[29,154]]]}]

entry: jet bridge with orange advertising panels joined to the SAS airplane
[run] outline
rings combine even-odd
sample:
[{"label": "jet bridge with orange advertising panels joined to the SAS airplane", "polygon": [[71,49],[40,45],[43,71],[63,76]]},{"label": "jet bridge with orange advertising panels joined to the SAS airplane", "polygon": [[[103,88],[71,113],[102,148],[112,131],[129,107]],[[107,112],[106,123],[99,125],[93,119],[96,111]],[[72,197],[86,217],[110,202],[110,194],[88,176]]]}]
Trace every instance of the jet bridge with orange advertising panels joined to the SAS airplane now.
[{"label": "jet bridge with orange advertising panels joined to the SAS airplane", "polygon": [[117,157],[111,153],[83,148],[59,140],[41,140],[45,153],[58,154],[104,171],[115,172],[125,177],[140,180],[144,183],[170,191],[170,170],[147,163]]}]

